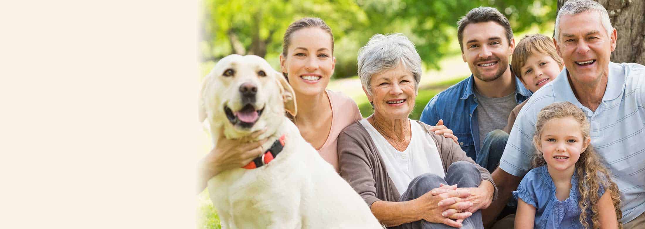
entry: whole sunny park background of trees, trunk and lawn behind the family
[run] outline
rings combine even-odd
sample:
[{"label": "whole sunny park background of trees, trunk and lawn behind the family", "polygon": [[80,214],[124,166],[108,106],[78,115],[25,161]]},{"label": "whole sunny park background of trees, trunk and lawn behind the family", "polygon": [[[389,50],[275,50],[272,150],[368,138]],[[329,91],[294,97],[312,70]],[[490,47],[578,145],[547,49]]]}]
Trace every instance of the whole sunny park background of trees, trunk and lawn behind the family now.
[{"label": "whole sunny park background of trees, trunk and lawn behind the family", "polygon": [[[509,19],[515,43],[530,33],[551,37],[557,10],[566,0],[205,0],[200,15],[201,52],[198,80],[208,74],[217,60],[230,54],[258,55],[274,69],[279,68],[283,35],[290,23],[302,17],[320,17],[332,28],[335,71],[328,89],[353,98],[361,114],[372,108],[357,77],[359,48],[375,33],[403,33],[414,42],[423,62],[423,75],[415,109],[418,119],[423,107],[440,91],[470,76],[457,41],[457,21],[472,8],[491,6]],[[613,62],[645,63],[645,0],[597,0],[608,10],[618,31]],[[212,143],[204,131],[203,151]],[[208,190],[197,196],[198,228],[221,228]]]}]

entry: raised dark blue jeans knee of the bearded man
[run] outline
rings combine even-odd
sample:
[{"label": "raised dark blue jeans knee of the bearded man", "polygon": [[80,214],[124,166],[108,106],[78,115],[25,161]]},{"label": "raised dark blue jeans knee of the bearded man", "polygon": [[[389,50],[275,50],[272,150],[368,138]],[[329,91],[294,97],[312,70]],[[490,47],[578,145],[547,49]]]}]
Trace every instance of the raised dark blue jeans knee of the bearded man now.
[{"label": "raised dark blue jeans knee of the bearded man", "polygon": [[492,174],[493,170],[499,166],[506,142],[508,142],[508,134],[502,130],[496,129],[486,134],[481,151],[477,154],[477,158],[473,158],[475,163],[486,168]]}]

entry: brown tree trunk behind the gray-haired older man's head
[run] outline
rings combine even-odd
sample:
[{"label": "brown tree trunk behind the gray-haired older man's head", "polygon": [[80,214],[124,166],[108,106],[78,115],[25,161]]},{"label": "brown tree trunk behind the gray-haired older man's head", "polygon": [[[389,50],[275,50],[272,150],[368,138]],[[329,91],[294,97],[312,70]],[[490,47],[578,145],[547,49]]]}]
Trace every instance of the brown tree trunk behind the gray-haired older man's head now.
[{"label": "brown tree trunk behind the gray-haired older man's head", "polygon": [[[558,0],[558,10],[567,0]],[[645,64],[645,0],[594,0],[609,13],[618,33],[612,62]]]}]

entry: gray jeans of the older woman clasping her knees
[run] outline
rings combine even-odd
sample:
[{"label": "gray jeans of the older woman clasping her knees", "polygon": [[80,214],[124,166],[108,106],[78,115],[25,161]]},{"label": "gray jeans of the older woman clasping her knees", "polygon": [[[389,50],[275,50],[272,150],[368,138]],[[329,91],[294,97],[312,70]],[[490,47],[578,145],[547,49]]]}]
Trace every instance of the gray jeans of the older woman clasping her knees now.
[{"label": "gray jeans of the older woman clasping her knees", "polygon": [[[462,188],[472,188],[479,187],[481,179],[479,177],[479,170],[472,163],[466,161],[457,161],[452,163],[448,167],[445,178],[440,178],[439,176],[426,173],[421,174],[412,179],[410,185],[408,185],[408,190],[406,190],[402,195],[399,201],[409,201],[412,199],[417,199],[418,197],[423,196],[426,192],[434,188],[439,188],[439,183],[444,185],[457,185],[457,187]],[[464,220],[462,223],[462,228],[484,228],[482,224],[482,214],[481,210],[473,213],[470,217]],[[442,223],[430,223],[421,219],[420,221],[414,221],[412,223],[405,223],[399,226],[394,226],[390,228],[397,229],[444,229],[444,228],[453,228]]]}]

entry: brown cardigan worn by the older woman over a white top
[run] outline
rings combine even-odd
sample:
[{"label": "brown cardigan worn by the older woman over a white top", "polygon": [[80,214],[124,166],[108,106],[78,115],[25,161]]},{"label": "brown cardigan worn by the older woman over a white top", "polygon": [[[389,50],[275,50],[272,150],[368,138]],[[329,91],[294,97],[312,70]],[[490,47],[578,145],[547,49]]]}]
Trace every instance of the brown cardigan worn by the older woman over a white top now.
[{"label": "brown cardigan worn by the older woman over a white top", "polygon": [[[426,137],[432,138],[437,144],[444,172],[456,161],[468,161],[477,165],[475,161],[466,156],[466,152],[462,151],[457,143],[453,142],[452,138],[437,136],[437,134],[428,131],[430,125],[423,125],[428,133]],[[399,201],[401,194],[388,176],[381,154],[377,152],[370,134],[360,121],[341,131],[338,136],[338,154],[342,178],[361,194],[370,208],[372,208],[372,203],[379,200]],[[497,199],[497,186],[495,186],[490,173],[479,165],[477,165],[477,169],[479,169],[482,181],[488,180],[493,183],[493,187],[495,187],[493,199]]]}]

